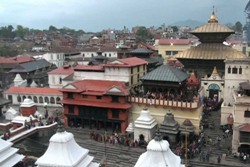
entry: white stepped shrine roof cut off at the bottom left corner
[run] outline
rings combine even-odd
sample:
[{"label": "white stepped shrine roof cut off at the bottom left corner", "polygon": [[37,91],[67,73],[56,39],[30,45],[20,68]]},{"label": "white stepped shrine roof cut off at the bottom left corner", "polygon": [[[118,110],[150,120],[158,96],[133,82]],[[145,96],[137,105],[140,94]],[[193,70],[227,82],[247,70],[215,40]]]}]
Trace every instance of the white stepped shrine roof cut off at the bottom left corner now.
[{"label": "white stepped shrine roof cut off at the bottom left corner", "polygon": [[22,162],[24,155],[17,154],[18,149],[11,147],[13,143],[0,139],[0,166],[10,167]]}]

